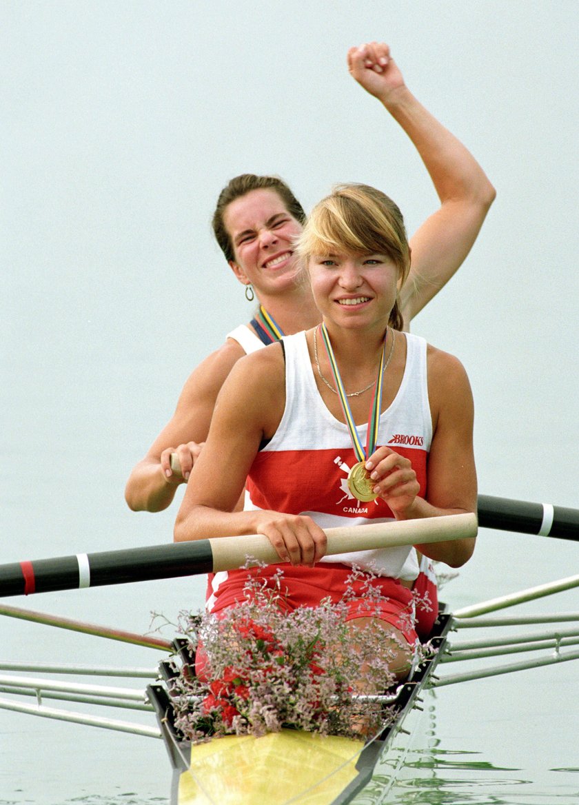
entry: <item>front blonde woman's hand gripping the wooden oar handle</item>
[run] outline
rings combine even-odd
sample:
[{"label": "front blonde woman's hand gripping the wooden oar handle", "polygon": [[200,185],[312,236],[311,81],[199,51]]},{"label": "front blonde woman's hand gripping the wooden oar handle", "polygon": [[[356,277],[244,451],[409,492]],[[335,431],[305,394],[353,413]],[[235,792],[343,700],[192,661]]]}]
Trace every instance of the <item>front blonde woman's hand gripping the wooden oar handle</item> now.
[{"label": "front blonde woman's hand gripping the wooden oar handle", "polygon": [[276,511],[256,514],[256,532],[269,539],[282,562],[313,568],[325,555],[326,535],[307,514],[281,514]]}]

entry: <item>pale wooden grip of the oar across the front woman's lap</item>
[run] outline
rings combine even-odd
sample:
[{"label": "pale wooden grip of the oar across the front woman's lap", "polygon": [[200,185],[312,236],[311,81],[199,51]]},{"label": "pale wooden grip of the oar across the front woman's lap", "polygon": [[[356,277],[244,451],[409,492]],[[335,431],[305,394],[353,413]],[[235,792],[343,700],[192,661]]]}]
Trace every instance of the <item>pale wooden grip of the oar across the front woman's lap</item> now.
[{"label": "pale wooden grip of the oar across the front woman's lap", "polygon": [[[379,522],[369,526],[327,528],[327,555],[370,551],[374,548],[442,543],[477,535],[476,514],[447,514],[421,520]],[[262,534],[209,539],[213,553],[213,572],[234,570],[246,565],[247,559],[257,563],[276,564],[279,556],[269,539]]]}]

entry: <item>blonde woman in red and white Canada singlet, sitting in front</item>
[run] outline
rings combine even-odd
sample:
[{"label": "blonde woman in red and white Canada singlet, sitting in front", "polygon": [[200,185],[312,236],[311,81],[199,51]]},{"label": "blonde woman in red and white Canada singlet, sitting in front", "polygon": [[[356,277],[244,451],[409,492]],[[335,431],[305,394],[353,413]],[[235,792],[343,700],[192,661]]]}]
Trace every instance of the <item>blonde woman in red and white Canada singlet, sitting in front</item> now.
[{"label": "blonde woman in red and white Canada singlet, sitting in front", "polygon": [[[279,564],[259,568],[261,588],[275,591],[281,569],[290,609],[342,601],[348,591],[346,620],[354,630],[370,622],[384,630],[390,670],[402,679],[416,642],[404,584],[418,575],[416,551],[325,556],[323,528],[476,510],[469,381],[455,357],[402,331],[410,246],[399,208],[382,192],[336,188],[312,210],[294,255],[321,324],[234,366],[192,468],[175,539],[266,535]],[[459,567],[474,539],[415,548]],[[379,593],[370,611],[366,593],[350,586],[354,567],[361,589]],[[243,601],[255,572],[210,576],[209,610]]]}]

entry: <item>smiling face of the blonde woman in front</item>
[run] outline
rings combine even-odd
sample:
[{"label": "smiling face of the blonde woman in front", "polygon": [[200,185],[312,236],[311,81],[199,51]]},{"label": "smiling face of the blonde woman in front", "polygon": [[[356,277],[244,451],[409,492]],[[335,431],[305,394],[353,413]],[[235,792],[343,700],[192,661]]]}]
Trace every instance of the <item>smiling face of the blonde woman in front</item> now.
[{"label": "smiling face of the blonde woman in front", "polygon": [[313,254],[308,261],[316,307],[326,324],[383,332],[395,305],[399,266],[387,254]]}]

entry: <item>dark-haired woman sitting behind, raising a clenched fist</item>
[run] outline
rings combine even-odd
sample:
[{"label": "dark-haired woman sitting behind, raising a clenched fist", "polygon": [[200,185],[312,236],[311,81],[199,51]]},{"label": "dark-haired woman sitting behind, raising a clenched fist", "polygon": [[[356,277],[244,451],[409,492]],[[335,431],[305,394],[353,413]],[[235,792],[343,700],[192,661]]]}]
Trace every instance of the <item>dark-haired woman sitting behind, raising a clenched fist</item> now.
[{"label": "dark-haired woman sitting behind, raising a clenched fist", "polygon": [[[410,93],[390,48],[353,47],[349,72],[376,97],[414,143],[432,178],[440,207],[410,240],[412,266],[400,295],[405,328],[461,266],[494,200],[494,188],[474,157]],[[126,484],[131,509],[160,511],[188,480],[209,431],[225,378],[240,357],[264,342],[312,327],[320,320],[309,287],[296,283],[293,242],[304,224],[296,196],[275,176],[244,174],[221,192],[213,230],[248,299],[259,306],[185,383],[171,421]],[[176,454],[177,460],[171,457]]]}]

